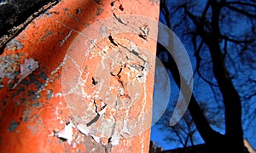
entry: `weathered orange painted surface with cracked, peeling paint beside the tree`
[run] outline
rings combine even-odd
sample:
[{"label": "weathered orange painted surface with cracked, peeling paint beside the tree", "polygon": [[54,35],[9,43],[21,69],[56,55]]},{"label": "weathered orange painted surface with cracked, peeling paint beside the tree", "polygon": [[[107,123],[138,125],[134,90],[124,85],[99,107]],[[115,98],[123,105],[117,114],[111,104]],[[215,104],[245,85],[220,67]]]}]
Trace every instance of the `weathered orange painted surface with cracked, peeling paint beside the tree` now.
[{"label": "weathered orange painted surface with cracked, peeling paint beside the tree", "polygon": [[32,20],[0,56],[1,152],[148,152],[158,15],[63,0]]}]

